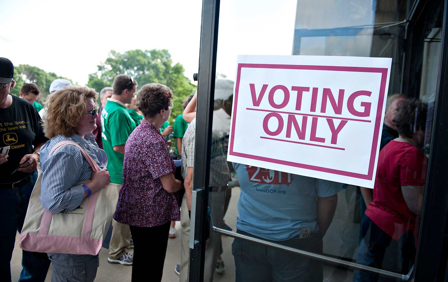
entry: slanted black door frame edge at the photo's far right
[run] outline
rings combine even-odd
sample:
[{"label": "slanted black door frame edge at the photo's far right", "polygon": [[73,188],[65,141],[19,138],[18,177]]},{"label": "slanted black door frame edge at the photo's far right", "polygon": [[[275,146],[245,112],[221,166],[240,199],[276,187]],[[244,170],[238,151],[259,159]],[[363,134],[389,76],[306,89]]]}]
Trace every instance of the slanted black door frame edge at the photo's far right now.
[{"label": "slanted black door frame edge at the photo's far right", "polygon": [[[446,0],[443,13],[437,95],[422,224],[415,261],[415,281],[434,281],[439,265],[444,267],[447,265],[446,261],[440,261],[448,210],[448,88],[446,87],[448,86],[448,18]],[[439,279],[444,279],[444,276]]]}]

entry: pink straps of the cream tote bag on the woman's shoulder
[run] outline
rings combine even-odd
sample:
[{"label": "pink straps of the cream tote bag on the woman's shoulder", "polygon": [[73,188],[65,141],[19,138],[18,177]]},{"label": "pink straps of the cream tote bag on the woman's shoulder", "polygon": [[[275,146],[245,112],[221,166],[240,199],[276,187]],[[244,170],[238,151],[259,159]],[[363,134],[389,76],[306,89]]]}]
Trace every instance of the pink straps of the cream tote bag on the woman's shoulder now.
[{"label": "pink straps of the cream tote bag on the woman's shoulder", "polygon": [[[78,147],[79,150],[81,150],[81,154],[84,156],[86,161],[90,164],[90,167],[92,167],[92,170],[100,171],[98,164],[92,159],[92,157],[90,157],[90,155],[87,154],[87,152],[84,149],[82,149],[82,147],[80,145],[78,145],[78,143],[73,142],[73,141],[60,141],[59,143],[57,143],[56,145],[53,146],[52,150],[50,150],[49,155],[51,156],[54,152],[56,152],[57,150],[59,150],[60,148],[66,146],[66,145],[73,145],[73,146]],[[91,194],[89,197],[89,202],[87,203],[86,214],[84,216],[84,224],[82,226],[82,235],[81,235],[82,238],[86,238],[86,239],[90,238],[97,198],[98,198],[97,192]],[[52,217],[53,217],[53,213],[44,209],[43,215],[42,215],[42,220],[40,221],[40,226],[39,226],[39,234],[40,235],[48,234],[48,231],[50,230],[50,224],[52,222]]]}]

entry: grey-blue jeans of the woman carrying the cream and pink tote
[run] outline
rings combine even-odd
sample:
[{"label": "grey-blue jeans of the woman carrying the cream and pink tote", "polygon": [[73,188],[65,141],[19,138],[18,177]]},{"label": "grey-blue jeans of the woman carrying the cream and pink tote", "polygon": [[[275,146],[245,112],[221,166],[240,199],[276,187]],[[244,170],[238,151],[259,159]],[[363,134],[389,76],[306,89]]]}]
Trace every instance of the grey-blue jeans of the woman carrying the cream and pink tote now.
[{"label": "grey-blue jeans of the woman carrying the cream and pink tote", "polygon": [[51,252],[47,255],[52,261],[52,282],[93,282],[95,280],[99,266],[98,255],[70,255]]}]

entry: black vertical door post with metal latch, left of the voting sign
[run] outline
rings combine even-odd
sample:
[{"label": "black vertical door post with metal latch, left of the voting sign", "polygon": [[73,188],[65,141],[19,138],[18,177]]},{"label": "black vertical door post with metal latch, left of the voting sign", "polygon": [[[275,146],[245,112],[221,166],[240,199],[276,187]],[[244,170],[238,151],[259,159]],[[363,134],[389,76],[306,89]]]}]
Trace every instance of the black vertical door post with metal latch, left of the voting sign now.
[{"label": "black vertical door post with metal latch, left of the voting sign", "polygon": [[[210,173],[211,127],[215,97],[216,48],[220,0],[202,1],[201,43],[199,49],[198,100],[193,199],[190,225],[189,281],[204,280],[207,236],[208,175]],[[194,205],[196,203],[196,205]],[[194,209],[195,207],[195,209]],[[207,228],[206,228],[207,226]],[[193,248],[192,248],[193,247]]]}]

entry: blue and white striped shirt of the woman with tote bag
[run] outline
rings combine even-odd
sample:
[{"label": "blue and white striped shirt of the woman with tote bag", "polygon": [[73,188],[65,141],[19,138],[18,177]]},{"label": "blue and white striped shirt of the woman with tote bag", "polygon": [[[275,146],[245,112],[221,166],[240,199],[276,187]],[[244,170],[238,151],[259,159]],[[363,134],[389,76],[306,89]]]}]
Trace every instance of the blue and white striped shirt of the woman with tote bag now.
[{"label": "blue and white striped shirt of the woman with tote bag", "polygon": [[[84,188],[76,185],[92,177],[92,168],[81,154],[78,147],[67,145],[51,156],[53,146],[60,141],[74,141],[84,149],[100,168],[107,167],[108,157],[104,150],[99,149],[93,133],[84,138],[73,133],[70,137],[58,135],[40,148],[40,165],[42,167],[42,182],[40,201],[45,209],[52,213],[75,210],[84,199]],[[104,239],[103,247],[108,248],[111,228]]]}]

